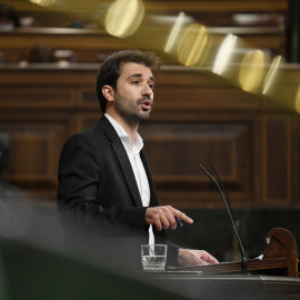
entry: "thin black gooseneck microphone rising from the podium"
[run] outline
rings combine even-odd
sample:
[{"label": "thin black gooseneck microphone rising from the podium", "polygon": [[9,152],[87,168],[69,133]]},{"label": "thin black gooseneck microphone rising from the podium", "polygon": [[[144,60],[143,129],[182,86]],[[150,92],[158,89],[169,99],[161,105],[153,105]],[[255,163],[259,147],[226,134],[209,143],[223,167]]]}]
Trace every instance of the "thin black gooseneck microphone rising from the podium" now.
[{"label": "thin black gooseneck microphone rising from the podium", "polygon": [[[236,222],[233,220],[233,214],[232,214],[232,210],[231,210],[231,203],[230,203],[230,200],[229,200],[229,196],[228,196],[228,192],[227,192],[227,189],[224,187],[224,184],[222,183],[219,174],[217,173],[217,171],[213,169],[213,167],[211,166],[211,169],[218,180],[218,182],[216,181],[216,179],[204,169],[203,166],[199,164],[199,167],[202,169],[202,171],[209,177],[209,179],[214,183],[214,186],[218,188],[220,194],[221,194],[221,198],[223,200],[223,203],[224,203],[224,207],[227,209],[227,212],[228,212],[228,216],[231,220],[231,223],[232,223],[232,227],[233,227],[233,231],[236,233],[236,237],[238,239],[238,242],[239,242],[239,249],[240,249],[240,254],[241,254],[241,272],[242,274],[246,274],[247,273],[247,259],[246,259],[246,256],[244,256],[244,250],[243,250],[243,247],[242,247],[242,242],[241,242],[241,239],[240,239],[240,236],[239,236],[239,232],[237,230],[237,227],[236,227]],[[226,197],[224,197],[224,193],[226,193]]]}]

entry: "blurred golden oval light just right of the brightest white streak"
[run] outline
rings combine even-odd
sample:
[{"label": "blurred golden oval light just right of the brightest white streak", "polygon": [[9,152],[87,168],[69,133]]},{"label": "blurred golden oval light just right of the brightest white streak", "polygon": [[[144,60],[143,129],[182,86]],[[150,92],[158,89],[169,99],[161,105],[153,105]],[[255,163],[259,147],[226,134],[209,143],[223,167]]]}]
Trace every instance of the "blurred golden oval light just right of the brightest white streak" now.
[{"label": "blurred golden oval light just right of the brightest white streak", "polygon": [[251,50],[244,54],[240,66],[240,86],[244,91],[257,92],[266,72],[266,54],[261,50]]}]

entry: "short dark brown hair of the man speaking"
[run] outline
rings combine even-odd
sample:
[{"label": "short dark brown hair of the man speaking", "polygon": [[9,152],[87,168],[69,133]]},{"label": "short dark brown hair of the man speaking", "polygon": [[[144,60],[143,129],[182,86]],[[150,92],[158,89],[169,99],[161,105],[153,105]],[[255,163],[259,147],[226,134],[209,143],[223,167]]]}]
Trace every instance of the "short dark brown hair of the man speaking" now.
[{"label": "short dark brown hair of the man speaking", "polygon": [[122,50],[109,56],[99,68],[96,81],[96,91],[103,113],[107,110],[108,101],[102,93],[102,87],[110,86],[117,91],[117,82],[123,62],[144,64],[146,67],[149,67],[152,72],[156,72],[159,69],[159,59],[150,51]]}]

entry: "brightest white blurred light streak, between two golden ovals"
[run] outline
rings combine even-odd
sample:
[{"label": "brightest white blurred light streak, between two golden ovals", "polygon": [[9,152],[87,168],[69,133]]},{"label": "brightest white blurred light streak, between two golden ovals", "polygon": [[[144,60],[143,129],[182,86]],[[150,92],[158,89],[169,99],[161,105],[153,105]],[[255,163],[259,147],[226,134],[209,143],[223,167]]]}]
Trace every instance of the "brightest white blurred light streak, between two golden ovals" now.
[{"label": "brightest white blurred light streak, between two golden ovals", "polygon": [[216,60],[213,62],[212,72],[216,74],[223,74],[226,68],[229,66],[234,52],[234,48],[238,43],[238,37],[228,34],[221,43],[218,50]]}]

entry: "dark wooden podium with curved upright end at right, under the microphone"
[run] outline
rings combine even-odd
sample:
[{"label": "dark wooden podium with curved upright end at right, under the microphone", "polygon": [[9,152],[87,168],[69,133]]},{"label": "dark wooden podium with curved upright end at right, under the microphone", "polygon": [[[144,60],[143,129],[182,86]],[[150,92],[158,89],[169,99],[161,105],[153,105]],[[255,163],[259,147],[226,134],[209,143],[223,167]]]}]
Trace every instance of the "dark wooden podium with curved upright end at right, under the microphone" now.
[{"label": "dark wooden podium with curved upright end at right, under the microphone", "polygon": [[[158,287],[188,299],[300,299],[298,247],[292,234],[273,228],[262,259],[196,267],[169,267],[144,272]],[[246,273],[243,273],[246,270]]]}]

